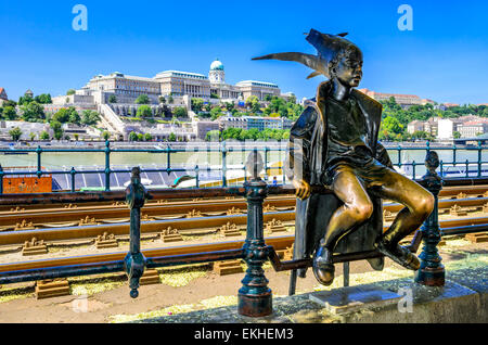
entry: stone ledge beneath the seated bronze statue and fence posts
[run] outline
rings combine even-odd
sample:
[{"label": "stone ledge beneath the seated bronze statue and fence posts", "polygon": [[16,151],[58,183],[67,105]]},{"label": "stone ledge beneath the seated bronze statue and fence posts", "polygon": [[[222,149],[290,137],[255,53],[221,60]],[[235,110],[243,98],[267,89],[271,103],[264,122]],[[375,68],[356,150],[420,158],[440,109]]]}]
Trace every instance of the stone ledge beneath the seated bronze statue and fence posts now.
[{"label": "stone ledge beneath the seated bronze statue and fence posts", "polygon": [[[156,323],[486,323],[488,267],[464,268],[448,272],[446,286],[428,288],[413,283],[413,279],[396,279],[380,283],[341,288],[337,294],[378,290],[386,295],[398,294],[401,299],[389,304],[361,302],[361,308],[350,312],[334,314],[330,308],[310,301],[318,293],[307,293],[273,299],[274,314],[266,318],[246,318],[237,315],[236,306],[192,311],[187,314],[146,319],[137,322]],[[393,294],[391,294],[393,293]],[[322,292],[323,294],[323,292]],[[411,303],[410,303],[411,302]]]}]

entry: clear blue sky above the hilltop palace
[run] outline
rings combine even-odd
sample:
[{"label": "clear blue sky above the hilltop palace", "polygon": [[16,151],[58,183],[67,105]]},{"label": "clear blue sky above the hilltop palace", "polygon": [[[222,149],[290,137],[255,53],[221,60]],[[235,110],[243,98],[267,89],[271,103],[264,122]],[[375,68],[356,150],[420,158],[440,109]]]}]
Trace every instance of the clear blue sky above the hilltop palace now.
[{"label": "clear blue sky above the hilltop palace", "polygon": [[[88,8],[75,31],[72,9]],[[400,31],[400,4],[413,30]],[[255,79],[313,97],[323,78],[297,63],[251,61],[283,51],[314,53],[303,33],[348,31],[364,53],[360,87],[438,102],[488,103],[488,2],[375,1],[12,1],[0,0],[0,87],[17,100],[64,94],[115,71],[152,77],[166,69],[207,74],[215,58],[228,82]]]}]

